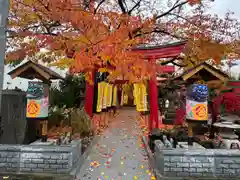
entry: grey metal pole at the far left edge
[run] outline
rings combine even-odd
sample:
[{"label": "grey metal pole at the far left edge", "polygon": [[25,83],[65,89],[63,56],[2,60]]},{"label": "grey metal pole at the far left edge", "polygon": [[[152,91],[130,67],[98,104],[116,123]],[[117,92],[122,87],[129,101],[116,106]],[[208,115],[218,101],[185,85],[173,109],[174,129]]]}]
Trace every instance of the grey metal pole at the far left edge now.
[{"label": "grey metal pole at the far left edge", "polygon": [[6,30],[9,12],[9,0],[0,0],[0,118],[4,77],[4,59],[6,51]]}]

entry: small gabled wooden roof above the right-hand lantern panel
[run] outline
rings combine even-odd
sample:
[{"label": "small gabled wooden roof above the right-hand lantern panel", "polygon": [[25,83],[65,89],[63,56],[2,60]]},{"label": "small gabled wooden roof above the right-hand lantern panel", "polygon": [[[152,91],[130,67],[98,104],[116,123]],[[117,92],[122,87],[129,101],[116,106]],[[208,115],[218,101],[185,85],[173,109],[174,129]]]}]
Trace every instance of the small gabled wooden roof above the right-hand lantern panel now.
[{"label": "small gabled wooden roof above the right-hand lantern panel", "polygon": [[227,81],[229,79],[229,76],[224,73],[223,71],[221,71],[220,69],[217,69],[215,67],[213,67],[212,65],[203,62],[200,63],[192,68],[189,68],[187,70],[185,70],[182,74],[176,76],[173,80],[184,80],[186,81],[187,79],[194,77],[194,75],[198,72],[200,72],[201,70],[206,70],[209,73],[211,73],[213,76],[215,76],[216,78],[220,79],[221,81]]}]

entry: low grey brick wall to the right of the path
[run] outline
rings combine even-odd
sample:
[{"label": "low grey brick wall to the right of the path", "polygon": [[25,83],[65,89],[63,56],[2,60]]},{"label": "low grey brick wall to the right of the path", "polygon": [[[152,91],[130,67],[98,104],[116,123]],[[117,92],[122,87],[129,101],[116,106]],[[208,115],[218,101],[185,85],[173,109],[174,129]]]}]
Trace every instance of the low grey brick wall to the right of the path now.
[{"label": "low grey brick wall to the right of the path", "polygon": [[235,178],[240,176],[240,151],[165,149],[155,142],[155,168],[163,177]]}]

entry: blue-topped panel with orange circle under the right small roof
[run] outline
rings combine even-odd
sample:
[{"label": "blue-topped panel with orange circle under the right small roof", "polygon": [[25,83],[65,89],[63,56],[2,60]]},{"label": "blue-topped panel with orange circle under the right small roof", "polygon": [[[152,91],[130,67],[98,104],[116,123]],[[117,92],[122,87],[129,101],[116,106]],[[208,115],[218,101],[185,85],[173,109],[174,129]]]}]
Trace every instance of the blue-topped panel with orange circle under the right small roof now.
[{"label": "blue-topped panel with orange circle under the right small roof", "polygon": [[208,120],[208,87],[194,84],[187,89],[186,119],[195,121]]}]

